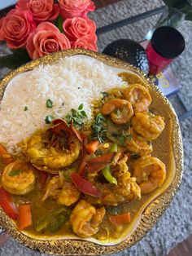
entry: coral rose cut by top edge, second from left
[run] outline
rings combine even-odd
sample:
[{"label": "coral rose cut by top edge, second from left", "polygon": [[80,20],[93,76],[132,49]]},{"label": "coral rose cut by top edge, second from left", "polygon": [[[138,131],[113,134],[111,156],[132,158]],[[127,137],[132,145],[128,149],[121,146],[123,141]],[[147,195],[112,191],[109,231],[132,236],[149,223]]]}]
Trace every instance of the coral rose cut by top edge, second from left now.
[{"label": "coral rose cut by top edge, second from left", "polygon": [[31,11],[37,24],[55,20],[59,15],[59,6],[54,4],[54,0],[19,0],[16,7]]}]

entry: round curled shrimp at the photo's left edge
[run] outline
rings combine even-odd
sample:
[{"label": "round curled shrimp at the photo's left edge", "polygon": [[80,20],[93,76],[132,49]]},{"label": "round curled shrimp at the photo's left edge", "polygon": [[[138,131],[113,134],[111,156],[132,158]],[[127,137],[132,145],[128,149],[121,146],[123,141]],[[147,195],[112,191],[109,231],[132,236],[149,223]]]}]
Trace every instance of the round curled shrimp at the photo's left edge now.
[{"label": "round curled shrimp at the photo's left edge", "polygon": [[14,195],[31,192],[36,182],[32,166],[25,161],[11,162],[2,172],[2,187]]}]

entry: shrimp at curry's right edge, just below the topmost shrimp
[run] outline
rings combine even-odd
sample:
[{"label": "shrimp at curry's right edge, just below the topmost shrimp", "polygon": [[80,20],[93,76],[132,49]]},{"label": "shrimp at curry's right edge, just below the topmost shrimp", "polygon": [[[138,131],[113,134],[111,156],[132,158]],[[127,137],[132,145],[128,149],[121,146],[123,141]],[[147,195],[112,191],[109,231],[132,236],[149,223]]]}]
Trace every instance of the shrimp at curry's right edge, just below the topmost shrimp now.
[{"label": "shrimp at curry's right edge, just below the topmost shrimp", "polygon": [[157,139],[164,130],[164,118],[152,113],[136,113],[132,119],[133,129],[148,140]]}]

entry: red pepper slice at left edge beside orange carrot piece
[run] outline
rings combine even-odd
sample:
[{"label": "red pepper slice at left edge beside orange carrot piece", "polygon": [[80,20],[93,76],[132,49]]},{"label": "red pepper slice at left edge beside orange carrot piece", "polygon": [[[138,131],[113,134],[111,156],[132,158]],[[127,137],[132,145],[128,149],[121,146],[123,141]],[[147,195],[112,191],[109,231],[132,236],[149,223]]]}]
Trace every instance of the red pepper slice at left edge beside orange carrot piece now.
[{"label": "red pepper slice at left edge beside orange carrot piece", "polygon": [[18,211],[12,201],[11,195],[4,188],[0,188],[0,205],[10,218],[18,218]]}]

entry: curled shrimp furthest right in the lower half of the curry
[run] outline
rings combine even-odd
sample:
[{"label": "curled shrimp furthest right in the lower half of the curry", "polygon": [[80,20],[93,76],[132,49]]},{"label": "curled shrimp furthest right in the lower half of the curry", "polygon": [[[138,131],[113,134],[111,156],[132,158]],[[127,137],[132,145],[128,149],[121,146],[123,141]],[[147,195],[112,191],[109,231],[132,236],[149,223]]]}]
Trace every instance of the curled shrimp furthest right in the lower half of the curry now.
[{"label": "curled shrimp furthest right in the lower half of the curry", "polygon": [[133,162],[133,176],[141,188],[142,194],[153,192],[166,178],[166,168],[156,157],[145,156]]}]

